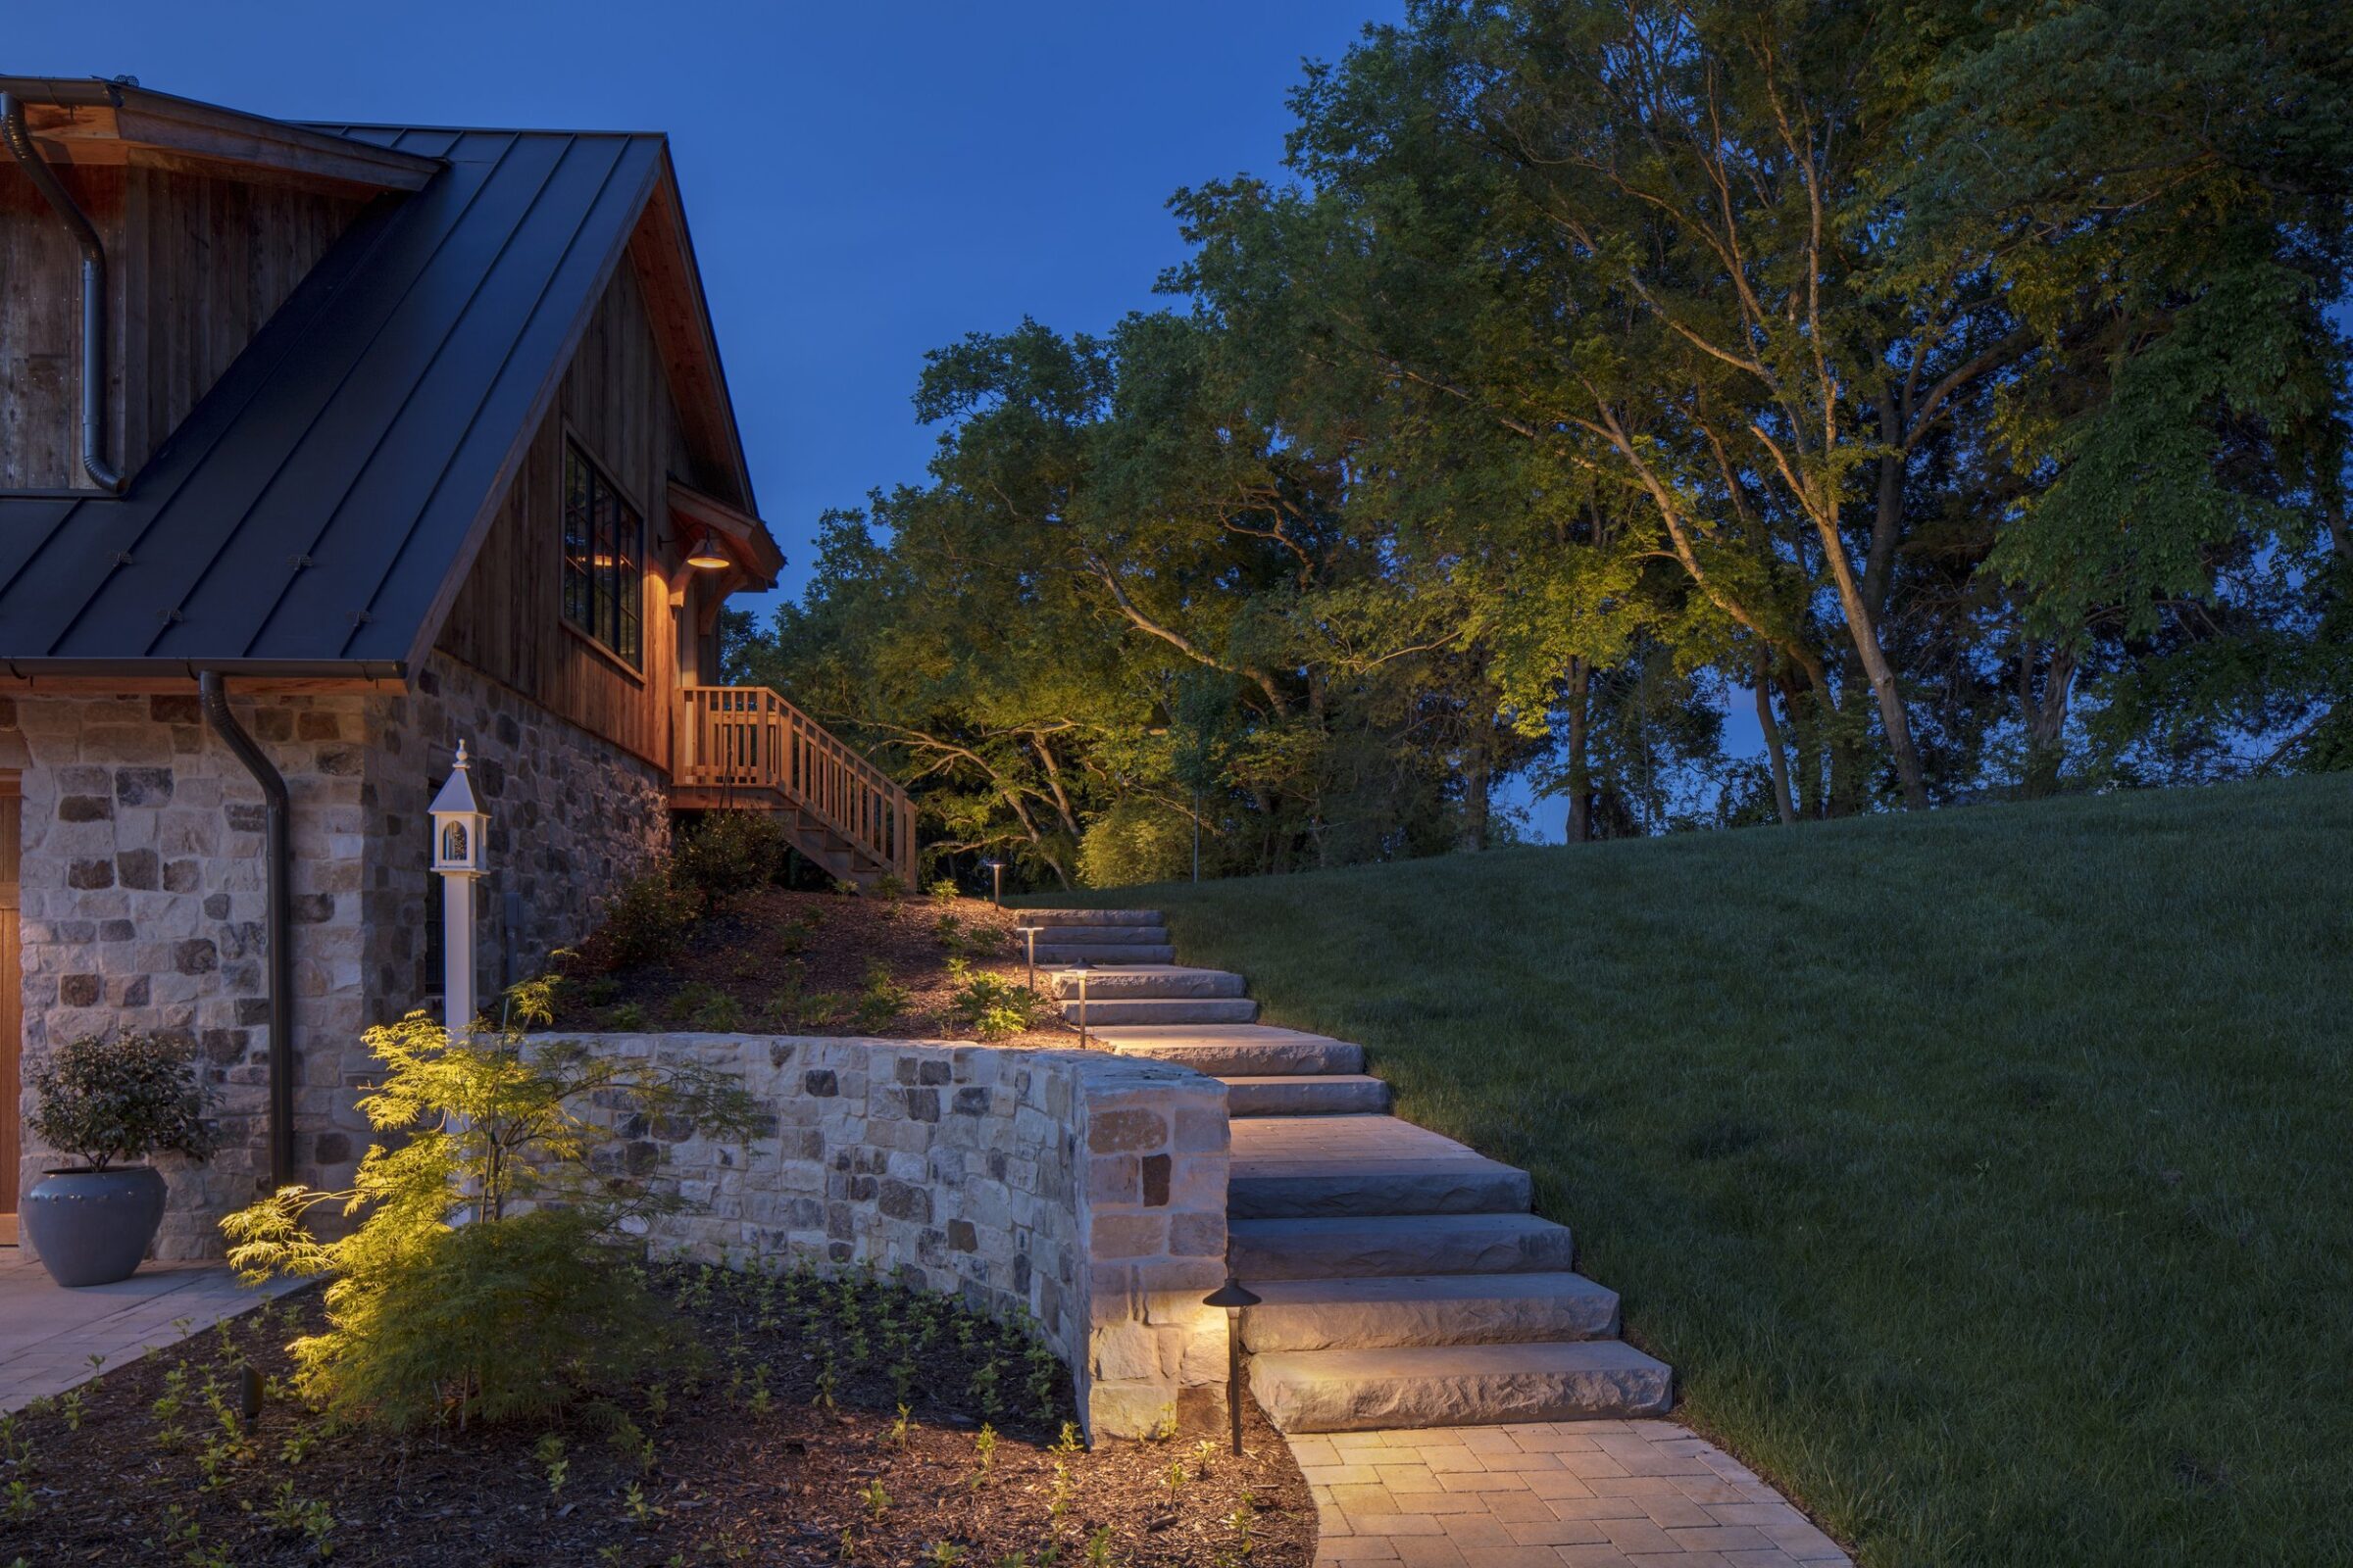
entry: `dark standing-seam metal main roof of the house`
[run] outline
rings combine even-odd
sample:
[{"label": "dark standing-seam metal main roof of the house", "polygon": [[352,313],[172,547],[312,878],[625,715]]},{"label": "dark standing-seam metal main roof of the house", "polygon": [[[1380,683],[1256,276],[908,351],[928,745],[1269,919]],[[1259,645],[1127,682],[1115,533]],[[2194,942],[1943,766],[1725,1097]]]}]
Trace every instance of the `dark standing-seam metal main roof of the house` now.
[{"label": "dark standing-seam metal main roof of the house", "polygon": [[341,134],[447,167],[362,212],[120,498],[0,496],[16,675],[402,672],[666,158]]}]

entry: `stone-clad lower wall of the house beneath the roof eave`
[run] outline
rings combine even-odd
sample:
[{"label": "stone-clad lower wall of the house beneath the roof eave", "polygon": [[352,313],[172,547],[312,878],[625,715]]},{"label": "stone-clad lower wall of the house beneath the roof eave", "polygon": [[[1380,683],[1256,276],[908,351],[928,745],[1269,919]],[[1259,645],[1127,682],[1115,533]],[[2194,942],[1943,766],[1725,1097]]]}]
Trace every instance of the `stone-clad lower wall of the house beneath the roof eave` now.
[{"label": "stone-clad lower wall of the house beneath the roof eave", "polygon": [[[369,1023],[438,990],[426,973],[426,804],[459,736],[492,811],[478,919],[499,978],[504,889],[522,893],[515,973],[579,940],[612,884],[668,846],[661,776],[435,654],[407,693],[235,696],[287,780],[294,842],[296,1180],[341,1187],[367,1147],[355,1110]],[[264,806],[193,696],[0,698],[0,769],[24,776],[24,1065],[120,1030],[198,1044],[221,1152],[162,1161],[158,1258],[221,1251],[216,1220],[268,1175]],[[31,1112],[31,1088],[21,1110]],[[21,1187],[54,1164],[26,1138]]]}]

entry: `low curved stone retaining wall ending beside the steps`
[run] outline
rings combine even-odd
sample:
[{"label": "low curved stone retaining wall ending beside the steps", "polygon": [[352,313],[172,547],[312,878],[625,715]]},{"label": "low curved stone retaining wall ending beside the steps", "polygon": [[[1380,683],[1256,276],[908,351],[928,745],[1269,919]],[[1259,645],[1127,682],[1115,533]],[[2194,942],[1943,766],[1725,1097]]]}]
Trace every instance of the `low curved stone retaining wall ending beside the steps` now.
[{"label": "low curved stone retaining wall ending beside the steps", "polygon": [[894,1039],[591,1034],[744,1079],[774,1140],[734,1147],[633,1128],[614,1159],[664,1159],[699,1211],[656,1255],[812,1260],[1031,1312],[1071,1363],[1089,1436],[1226,1420],[1226,1091],[1188,1067],[1099,1051]]}]

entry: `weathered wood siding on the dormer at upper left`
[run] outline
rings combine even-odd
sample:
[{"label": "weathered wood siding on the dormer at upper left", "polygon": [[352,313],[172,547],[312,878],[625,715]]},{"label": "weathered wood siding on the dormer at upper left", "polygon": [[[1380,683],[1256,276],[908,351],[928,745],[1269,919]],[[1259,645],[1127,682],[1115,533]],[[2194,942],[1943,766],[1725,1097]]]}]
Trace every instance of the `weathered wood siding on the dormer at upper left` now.
[{"label": "weathered wood siding on the dormer at upper left", "polygon": [[[106,244],[106,449],[136,475],[365,202],[129,165],[59,167]],[[82,259],[0,160],[0,489],[89,489]]]}]

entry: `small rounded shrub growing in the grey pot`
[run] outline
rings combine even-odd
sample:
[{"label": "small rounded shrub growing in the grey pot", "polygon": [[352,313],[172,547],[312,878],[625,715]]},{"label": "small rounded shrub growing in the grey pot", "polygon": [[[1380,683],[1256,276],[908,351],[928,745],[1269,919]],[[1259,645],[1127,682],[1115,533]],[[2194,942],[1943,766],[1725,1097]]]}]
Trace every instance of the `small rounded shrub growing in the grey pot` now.
[{"label": "small rounded shrub growing in the grey pot", "polygon": [[195,1044],[162,1034],[82,1034],[31,1072],[40,1105],[26,1126],[94,1171],[151,1154],[212,1154]]}]

